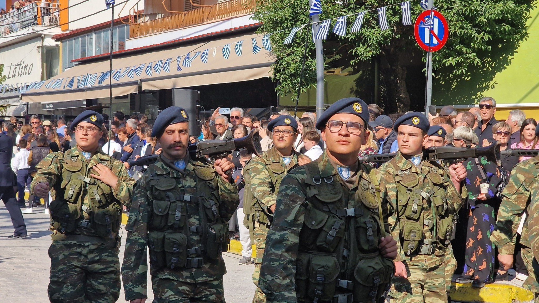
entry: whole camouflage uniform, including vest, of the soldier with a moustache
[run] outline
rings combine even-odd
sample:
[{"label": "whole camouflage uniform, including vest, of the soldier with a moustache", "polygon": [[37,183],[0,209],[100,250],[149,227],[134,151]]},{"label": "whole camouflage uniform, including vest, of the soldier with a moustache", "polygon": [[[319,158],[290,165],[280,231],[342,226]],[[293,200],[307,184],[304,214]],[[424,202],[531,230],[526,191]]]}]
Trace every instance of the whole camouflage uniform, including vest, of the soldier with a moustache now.
[{"label": "whole camouflage uniform, including vest, of the soldier with a moustache", "polygon": [[135,185],[126,225],[126,300],[147,298],[148,246],[154,302],[224,302],[221,255],[238,202],[236,184],[205,159],[179,170],[161,155],[148,166]]}]

